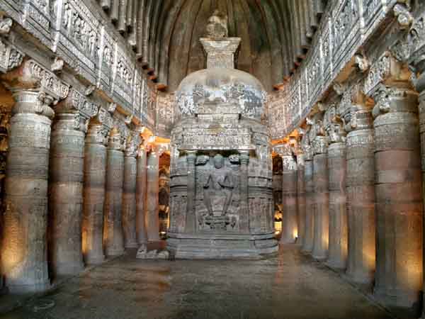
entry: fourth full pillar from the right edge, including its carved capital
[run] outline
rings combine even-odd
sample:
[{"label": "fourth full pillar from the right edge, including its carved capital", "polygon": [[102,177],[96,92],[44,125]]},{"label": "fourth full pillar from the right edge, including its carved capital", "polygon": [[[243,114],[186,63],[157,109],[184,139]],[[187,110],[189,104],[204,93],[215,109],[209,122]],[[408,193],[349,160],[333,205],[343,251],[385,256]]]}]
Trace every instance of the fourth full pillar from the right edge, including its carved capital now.
[{"label": "fourth full pillar from the right edge, including its carved capital", "polygon": [[[326,259],[329,247],[329,179],[327,164],[327,137],[322,122],[314,124],[316,134],[313,143],[313,185],[314,185],[314,241],[312,257]],[[320,135],[319,135],[320,134]]]}]

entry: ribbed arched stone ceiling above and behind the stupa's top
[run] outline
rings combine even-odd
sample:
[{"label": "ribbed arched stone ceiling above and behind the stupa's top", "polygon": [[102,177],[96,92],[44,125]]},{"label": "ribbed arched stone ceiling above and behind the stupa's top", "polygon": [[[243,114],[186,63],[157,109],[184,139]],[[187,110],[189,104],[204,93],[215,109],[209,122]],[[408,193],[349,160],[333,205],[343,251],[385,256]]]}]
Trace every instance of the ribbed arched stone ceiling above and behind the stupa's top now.
[{"label": "ribbed arched stone ceiling above and behind the stupa's top", "polygon": [[151,79],[174,91],[205,67],[199,38],[215,9],[242,38],[237,68],[268,90],[290,77],[310,46],[326,0],[100,0]]}]

